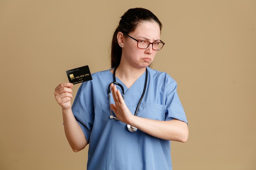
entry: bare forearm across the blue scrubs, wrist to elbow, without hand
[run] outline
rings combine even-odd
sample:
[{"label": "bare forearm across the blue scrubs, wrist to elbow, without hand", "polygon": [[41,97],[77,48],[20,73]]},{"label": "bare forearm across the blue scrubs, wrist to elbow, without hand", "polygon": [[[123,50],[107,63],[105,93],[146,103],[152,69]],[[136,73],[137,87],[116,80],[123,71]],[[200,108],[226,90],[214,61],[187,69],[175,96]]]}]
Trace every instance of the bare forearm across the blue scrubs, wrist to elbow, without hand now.
[{"label": "bare forearm across the blue scrubs, wrist to elbow, without hand", "polygon": [[159,121],[142,117],[133,117],[131,126],[160,139],[186,142],[189,137],[188,125],[184,121]]}]

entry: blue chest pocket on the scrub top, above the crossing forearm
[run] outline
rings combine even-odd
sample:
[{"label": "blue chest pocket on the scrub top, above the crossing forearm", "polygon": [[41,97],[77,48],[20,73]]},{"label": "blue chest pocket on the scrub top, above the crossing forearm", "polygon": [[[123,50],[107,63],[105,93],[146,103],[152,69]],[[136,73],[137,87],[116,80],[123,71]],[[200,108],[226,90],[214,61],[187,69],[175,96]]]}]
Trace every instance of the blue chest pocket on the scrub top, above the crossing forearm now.
[{"label": "blue chest pocket on the scrub top, above the crossing forearm", "polygon": [[165,120],[166,106],[156,103],[146,103],[145,117],[154,120]]}]

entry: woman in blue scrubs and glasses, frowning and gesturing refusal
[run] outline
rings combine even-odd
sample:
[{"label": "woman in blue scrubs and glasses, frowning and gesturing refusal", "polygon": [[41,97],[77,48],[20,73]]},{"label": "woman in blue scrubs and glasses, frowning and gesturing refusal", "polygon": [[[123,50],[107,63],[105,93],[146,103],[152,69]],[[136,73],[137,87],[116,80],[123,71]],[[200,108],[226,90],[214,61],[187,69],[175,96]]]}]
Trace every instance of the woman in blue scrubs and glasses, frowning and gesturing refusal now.
[{"label": "woman in blue scrubs and glasses, frowning and gesturing refusal", "polygon": [[87,170],[172,170],[170,141],[186,142],[189,130],[177,83],[150,68],[161,29],[151,11],[129,9],[113,35],[111,69],[83,82],[73,105],[73,84],[55,88],[72,150],[90,144]]}]

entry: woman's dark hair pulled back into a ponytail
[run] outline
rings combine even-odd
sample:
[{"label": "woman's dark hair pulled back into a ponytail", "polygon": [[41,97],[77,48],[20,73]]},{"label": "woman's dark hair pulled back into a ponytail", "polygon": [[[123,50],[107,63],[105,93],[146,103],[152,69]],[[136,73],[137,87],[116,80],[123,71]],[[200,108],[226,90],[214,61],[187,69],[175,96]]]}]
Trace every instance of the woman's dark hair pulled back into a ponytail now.
[{"label": "woman's dark hair pulled back into a ponytail", "polygon": [[148,9],[134,8],[129,9],[124,13],[119,21],[119,25],[114,32],[112,44],[111,44],[111,68],[117,67],[121,61],[122,48],[117,42],[117,33],[130,33],[135,31],[137,24],[142,21],[155,21],[159,24],[160,31],[162,30],[162,23],[158,20],[157,16]]}]

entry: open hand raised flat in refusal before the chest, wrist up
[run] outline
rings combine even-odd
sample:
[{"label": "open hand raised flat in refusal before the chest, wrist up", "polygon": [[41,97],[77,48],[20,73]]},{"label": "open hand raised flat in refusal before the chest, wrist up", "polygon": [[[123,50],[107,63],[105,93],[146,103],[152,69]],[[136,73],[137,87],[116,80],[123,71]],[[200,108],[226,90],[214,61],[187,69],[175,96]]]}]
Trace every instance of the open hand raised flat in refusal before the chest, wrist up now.
[{"label": "open hand raised flat in refusal before the chest, wrist up", "polygon": [[120,121],[124,122],[125,124],[130,124],[134,115],[132,115],[129,108],[126,106],[120,91],[117,90],[116,85],[111,84],[110,87],[115,101],[115,104],[111,104],[110,108],[114,111],[116,117]]}]

